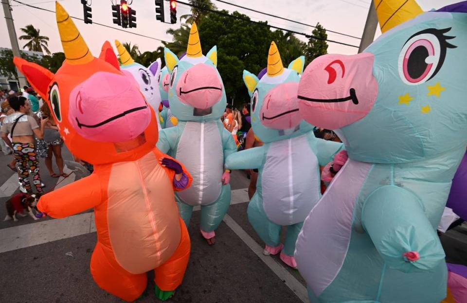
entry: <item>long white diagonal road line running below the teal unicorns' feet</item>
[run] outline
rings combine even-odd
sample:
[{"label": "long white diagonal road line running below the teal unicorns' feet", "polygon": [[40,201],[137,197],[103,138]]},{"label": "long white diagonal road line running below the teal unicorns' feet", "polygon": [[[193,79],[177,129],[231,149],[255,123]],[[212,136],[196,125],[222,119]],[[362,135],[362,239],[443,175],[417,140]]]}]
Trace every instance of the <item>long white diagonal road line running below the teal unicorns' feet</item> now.
[{"label": "long white diagonal road line running below the teal unicorns' feet", "polygon": [[281,264],[279,264],[276,260],[271,258],[270,256],[265,256],[263,254],[263,248],[256,243],[251,236],[245,232],[237,222],[232,219],[229,215],[225,215],[224,222],[229,226],[234,233],[242,239],[245,244],[250,247],[250,249],[255,253],[268,267],[271,269],[285,284],[290,288],[295,295],[302,300],[304,303],[308,303],[308,292],[306,291],[306,287],[302,285],[295,277],[287,271]]}]

